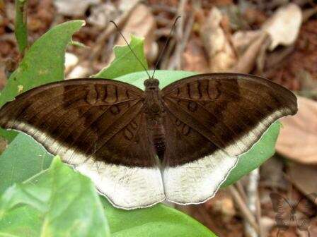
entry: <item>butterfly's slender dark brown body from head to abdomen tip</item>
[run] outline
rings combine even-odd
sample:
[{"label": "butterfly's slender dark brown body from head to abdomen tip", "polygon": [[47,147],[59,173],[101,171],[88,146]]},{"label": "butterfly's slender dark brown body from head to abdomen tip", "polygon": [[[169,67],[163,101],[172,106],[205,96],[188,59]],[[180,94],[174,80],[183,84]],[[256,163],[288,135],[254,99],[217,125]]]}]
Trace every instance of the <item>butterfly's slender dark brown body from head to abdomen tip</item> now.
[{"label": "butterfly's slender dark brown body from head to abdomen tip", "polygon": [[163,159],[166,145],[166,131],[163,126],[164,107],[159,89],[159,80],[149,78],[144,81],[145,114],[149,138],[159,159]]}]

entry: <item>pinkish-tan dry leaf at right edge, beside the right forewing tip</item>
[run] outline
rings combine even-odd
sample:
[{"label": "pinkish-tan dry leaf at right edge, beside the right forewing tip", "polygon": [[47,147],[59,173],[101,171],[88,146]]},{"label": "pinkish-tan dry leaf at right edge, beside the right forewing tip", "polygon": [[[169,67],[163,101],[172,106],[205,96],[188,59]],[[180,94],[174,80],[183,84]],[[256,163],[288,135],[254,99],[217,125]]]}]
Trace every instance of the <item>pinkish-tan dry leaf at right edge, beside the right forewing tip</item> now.
[{"label": "pinkish-tan dry leaf at right edge, beside the right forewing tip", "polygon": [[276,150],[289,159],[317,164],[317,102],[298,97],[299,111],[281,119]]}]

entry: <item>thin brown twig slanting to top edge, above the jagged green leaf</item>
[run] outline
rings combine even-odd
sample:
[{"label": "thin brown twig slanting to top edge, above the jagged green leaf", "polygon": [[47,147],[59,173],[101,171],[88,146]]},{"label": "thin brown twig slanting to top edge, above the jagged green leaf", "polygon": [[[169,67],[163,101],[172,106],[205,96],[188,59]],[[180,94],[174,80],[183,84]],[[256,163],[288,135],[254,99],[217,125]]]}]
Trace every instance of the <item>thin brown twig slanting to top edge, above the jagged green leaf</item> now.
[{"label": "thin brown twig slanting to top edge, above the jagged green leaf", "polygon": [[[134,8],[139,4],[139,1],[135,1],[133,6],[131,6],[125,13],[123,13],[118,20],[116,20],[117,25],[119,28],[122,27],[122,25],[125,23],[125,21],[129,18],[130,13],[134,10]],[[93,47],[92,51],[89,52],[91,56],[89,57],[89,61],[93,61],[93,59],[98,58],[102,52],[102,48],[105,45],[105,41],[112,35],[117,29],[115,28],[115,25],[111,24],[106,28],[96,39],[96,46]]]}]

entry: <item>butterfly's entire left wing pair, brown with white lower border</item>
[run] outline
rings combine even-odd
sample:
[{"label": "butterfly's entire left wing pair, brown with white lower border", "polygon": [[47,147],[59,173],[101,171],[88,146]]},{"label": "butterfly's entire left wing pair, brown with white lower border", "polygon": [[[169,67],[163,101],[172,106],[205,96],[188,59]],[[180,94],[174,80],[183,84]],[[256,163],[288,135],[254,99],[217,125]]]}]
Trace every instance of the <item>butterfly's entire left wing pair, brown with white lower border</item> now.
[{"label": "butterfly's entire left wing pair, brown with white lower border", "polygon": [[[5,104],[0,126],[21,130],[59,154],[92,178],[114,205],[151,205],[163,199],[163,188],[146,134],[143,97],[142,90],[115,80],[65,80]],[[152,178],[137,166],[146,167]]]}]

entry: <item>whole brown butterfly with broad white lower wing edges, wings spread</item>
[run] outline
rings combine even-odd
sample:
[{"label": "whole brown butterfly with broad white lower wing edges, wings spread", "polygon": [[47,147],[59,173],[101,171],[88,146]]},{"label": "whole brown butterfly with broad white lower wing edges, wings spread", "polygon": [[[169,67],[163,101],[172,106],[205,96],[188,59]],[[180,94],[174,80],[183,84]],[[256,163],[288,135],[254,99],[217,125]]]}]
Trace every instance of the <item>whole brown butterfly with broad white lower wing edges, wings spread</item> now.
[{"label": "whole brown butterfly with broad white lower wing edges, wings spread", "polygon": [[84,78],[18,95],[0,109],[0,126],[59,154],[115,207],[134,209],[208,200],[238,156],[296,111],[292,92],[254,75],[193,75],[162,90],[155,78],[144,90]]}]

